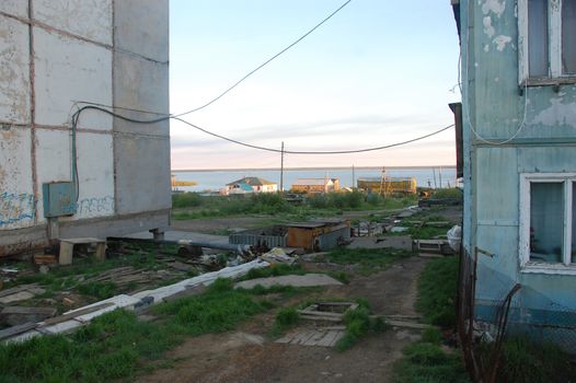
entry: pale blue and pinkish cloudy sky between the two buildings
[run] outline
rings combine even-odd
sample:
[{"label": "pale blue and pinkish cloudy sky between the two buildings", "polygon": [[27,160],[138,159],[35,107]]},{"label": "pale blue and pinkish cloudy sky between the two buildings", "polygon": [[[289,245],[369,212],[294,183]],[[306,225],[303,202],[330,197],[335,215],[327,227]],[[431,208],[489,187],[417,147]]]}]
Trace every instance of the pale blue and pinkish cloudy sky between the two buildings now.
[{"label": "pale blue and pinkish cloudy sky between the two buildings", "polygon": [[[171,112],[219,95],[344,0],[171,0]],[[184,118],[251,144],[353,150],[453,123],[458,34],[449,0],[353,0],[212,105]],[[280,155],[171,123],[172,169],[278,167]],[[453,129],[364,154],[285,158],[285,166],[456,163]]]}]

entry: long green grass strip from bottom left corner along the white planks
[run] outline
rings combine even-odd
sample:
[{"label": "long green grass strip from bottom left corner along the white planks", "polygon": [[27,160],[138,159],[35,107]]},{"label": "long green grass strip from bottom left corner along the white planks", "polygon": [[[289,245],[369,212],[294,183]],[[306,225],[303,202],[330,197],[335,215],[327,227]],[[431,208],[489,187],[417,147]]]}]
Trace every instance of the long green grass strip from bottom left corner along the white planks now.
[{"label": "long green grass strip from bottom left corner along the white planks", "polygon": [[0,345],[0,382],[104,382],[134,376],[186,335],[233,329],[273,306],[254,295],[234,290],[231,280],[218,279],[201,295],[154,306],[158,322],[140,322],[133,312],[116,310],[68,336]]}]

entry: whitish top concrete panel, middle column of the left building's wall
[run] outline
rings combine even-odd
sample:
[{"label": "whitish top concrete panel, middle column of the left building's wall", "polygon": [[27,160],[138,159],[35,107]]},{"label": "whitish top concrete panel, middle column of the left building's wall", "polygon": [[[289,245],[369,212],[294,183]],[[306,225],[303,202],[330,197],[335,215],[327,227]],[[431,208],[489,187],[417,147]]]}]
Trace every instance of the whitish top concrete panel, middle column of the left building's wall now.
[{"label": "whitish top concrete panel, middle column of the left building's wall", "polygon": [[112,45],[112,0],[34,0],[32,9],[50,26]]}]

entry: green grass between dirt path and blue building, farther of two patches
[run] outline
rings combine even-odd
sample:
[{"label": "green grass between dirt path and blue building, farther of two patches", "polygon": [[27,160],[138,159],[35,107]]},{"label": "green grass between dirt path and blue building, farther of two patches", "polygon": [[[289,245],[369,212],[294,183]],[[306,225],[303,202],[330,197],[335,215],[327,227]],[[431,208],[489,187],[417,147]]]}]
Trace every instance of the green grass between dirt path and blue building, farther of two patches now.
[{"label": "green grass between dirt path and blue building, farther of two patches", "polygon": [[418,310],[426,322],[445,328],[456,325],[458,257],[429,262],[418,279]]}]

